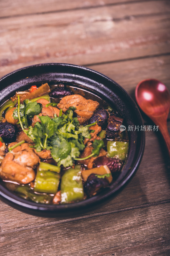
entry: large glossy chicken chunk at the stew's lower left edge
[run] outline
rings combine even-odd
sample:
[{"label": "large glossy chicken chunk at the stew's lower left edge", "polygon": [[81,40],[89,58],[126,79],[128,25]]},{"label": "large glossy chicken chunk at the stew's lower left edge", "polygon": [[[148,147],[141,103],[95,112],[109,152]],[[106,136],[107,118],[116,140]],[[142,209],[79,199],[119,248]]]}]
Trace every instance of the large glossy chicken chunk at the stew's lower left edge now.
[{"label": "large glossy chicken chunk at the stew's lower left edge", "polygon": [[3,180],[11,180],[20,184],[27,184],[35,179],[35,172],[30,167],[24,167],[13,161],[14,155],[5,156],[0,167],[0,177]]}]

